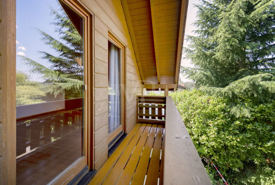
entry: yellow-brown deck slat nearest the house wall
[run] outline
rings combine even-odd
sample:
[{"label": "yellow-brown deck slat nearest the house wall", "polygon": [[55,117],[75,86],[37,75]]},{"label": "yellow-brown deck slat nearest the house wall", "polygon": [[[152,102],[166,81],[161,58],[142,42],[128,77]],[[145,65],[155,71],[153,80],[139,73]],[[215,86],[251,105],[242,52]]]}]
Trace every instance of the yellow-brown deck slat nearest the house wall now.
[{"label": "yellow-brown deck slat nearest the house wall", "polygon": [[117,162],[118,158],[121,156],[122,152],[126,148],[126,146],[129,144],[131,139],[133,138],[136,131],[140,128],[140,123],[136,124],[135,127],[131,130],[131,132],[124,138],[123,142],[118,146],[118,148],[115,150],[115,152],[111,155],[110,158],[104,163],[104,165],[101,167],[101,169],[97,172],[95,177],[91,180],[89,185],[91,184],[97,184],[100,185],[103,183],[104,179],[108,175],[108,173],[111,171],[112,167]]}]

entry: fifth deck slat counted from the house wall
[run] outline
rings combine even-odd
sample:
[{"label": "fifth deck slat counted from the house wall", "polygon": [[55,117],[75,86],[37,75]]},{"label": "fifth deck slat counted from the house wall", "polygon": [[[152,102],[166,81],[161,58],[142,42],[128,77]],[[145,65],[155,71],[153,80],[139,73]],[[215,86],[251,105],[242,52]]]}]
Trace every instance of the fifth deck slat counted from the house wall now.
[{"label": "fifth deck slat counted from the house wall", "polygon": [[158,125],[145,185],[157,185],[160,169],[160,150],[163,126]]}]

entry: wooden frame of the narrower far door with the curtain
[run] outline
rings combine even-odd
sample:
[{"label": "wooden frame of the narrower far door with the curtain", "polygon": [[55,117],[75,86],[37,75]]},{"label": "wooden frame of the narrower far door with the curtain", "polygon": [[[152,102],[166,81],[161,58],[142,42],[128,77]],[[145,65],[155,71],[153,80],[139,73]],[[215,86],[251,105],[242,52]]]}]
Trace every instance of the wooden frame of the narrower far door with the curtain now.
[{"label": "wooden frame of the narrower far door with the curtain", "polygon": [[109,144],[121,131],[123,131],[123,133],[126,133],[126,46],[113,33],[111,33],[111,31],[108,31],[108,41],[115,44],[115,46],[121,50],[121,125],[119,125],[115,130],[108,134]]}]

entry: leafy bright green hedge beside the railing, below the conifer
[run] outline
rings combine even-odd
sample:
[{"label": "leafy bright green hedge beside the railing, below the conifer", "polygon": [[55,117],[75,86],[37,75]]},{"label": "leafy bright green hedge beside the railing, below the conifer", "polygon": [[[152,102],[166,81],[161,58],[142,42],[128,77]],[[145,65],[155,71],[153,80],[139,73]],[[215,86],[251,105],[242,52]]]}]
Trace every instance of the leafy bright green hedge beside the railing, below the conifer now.
[{"label": "leafy bright green hedge beside the railing, below the conifer", "polygon": [[[201,157],[210,157],[229,184],[275,184],[275,101],[208,96],[196,89],[171,93]],[[233,108],[235,108],[234,106]],[[238,110],[238,109],[237,109]],[[215,170],[208,171],[220,184]]]}]

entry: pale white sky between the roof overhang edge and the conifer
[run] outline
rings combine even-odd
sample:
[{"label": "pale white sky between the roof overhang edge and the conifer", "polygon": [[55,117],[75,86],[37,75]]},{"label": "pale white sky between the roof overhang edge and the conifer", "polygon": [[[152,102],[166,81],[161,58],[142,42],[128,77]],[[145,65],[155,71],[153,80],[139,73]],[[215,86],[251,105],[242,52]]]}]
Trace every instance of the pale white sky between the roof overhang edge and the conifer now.
[{"label": "pale white sky between the roof overhang edge and the conifer", "polygon": [[[186,42],[186,35],[194,35],[192,31],[196,29],[191,24],[196,21],[196,12],[198,9],[196,7],[193,7],[193,4],[196,4],[197,2],[198,0],[189,0],[183,47],[188,46],[188,42]],[[185,57],[185,55],[183,54],[182,57]],[[181,65],[184,67],[193,67],[192,64],[190,64],[190,60],[186,60],[186,59],[181,59]],[[180,74],[180,79],[183,82],[191,81],[189,79],[186,79],[182,74]]]}]

